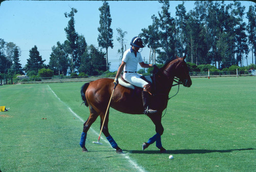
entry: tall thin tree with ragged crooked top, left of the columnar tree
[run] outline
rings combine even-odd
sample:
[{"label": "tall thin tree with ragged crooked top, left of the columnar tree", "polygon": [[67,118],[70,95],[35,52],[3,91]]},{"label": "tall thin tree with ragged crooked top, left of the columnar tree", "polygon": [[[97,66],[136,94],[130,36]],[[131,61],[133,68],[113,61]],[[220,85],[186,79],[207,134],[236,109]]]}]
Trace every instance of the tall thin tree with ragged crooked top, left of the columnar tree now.
[{"label": "tall thin tree with ragged crooked top, left of the columnar tree", "polygon": [[74,61],[77,61],[77,53],[76,53],[76,42],[78,39],[78,34],[75,31],[75,13],[77,13],[77,10],[75,8],[71,8],[70,13],[68,14],[67,12],[64,13],[65,17],[69,17],[70,20],[68,22],[68,27],[66,27],[64,30],[66,31],[67,34],[67,39],[68,39],[68,45],[70,46],[69,54],[71,55],[71,69],[72,73],[74,72]]}]

